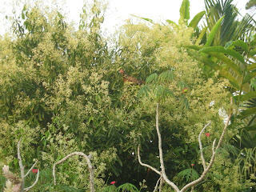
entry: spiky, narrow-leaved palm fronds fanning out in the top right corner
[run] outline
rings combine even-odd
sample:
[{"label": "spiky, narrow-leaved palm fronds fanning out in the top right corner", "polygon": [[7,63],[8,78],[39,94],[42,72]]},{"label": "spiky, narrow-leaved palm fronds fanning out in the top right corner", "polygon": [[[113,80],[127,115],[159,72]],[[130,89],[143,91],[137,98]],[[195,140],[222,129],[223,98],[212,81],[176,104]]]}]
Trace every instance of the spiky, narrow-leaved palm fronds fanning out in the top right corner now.
[{"label": "spiky, narrow-leaved palm fronds fanning out in the top right corner", "polygon": [[[238,9],[234,6],[233,0],[205,0],[206,23],[208,32],[213,30],[214,25],[220,18],[223,18],[218,33],[215,34],[213,46],[225,46],[226,42],[241,39],[246,41],[246,37],[255,30],[254,18],[246,14],[241,21],[238,20]],[[202,38],[206,41],[206,38]],[[205,42],[202,42],[205,43]]]}]

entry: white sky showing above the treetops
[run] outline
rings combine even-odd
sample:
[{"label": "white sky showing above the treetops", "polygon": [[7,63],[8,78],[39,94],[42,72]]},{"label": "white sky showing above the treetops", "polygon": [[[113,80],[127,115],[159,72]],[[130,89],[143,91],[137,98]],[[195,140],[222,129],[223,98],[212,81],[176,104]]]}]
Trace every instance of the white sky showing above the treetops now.
[{"label": "white sky showing above the treetops", "polygon": [[[14,0],[0,0],[2,9],[0,10],[0,34],[6,31],[6,22],[4,17],[11,13],[11,3]],[[29,0],[19,0],[19,2],[27,2]],[[51,0],[42,0],[47,4]],[[79,22],[79,14],[81,13],[85,0],[55,0],[58,5],[62,4],[64,12],[70,21]],[[248,0],[249,1],[249,0]],[[118,26],[121,26],[130,14],[135,14],[144,18],[152,18],[154,21],[165,21],[170,19],[178,22],[179,8],[182,0],[109,0],[108,10],[103,27],[110,32],[114,32]],[[253,14],[252,11],[245,10],[247,0],[234,0],[238,10],[244,15],[246,12]],[[63,5],[64,4],[64,5]],[[204,8],[203,0],[190,0],[190,18],[202,11]]]}]

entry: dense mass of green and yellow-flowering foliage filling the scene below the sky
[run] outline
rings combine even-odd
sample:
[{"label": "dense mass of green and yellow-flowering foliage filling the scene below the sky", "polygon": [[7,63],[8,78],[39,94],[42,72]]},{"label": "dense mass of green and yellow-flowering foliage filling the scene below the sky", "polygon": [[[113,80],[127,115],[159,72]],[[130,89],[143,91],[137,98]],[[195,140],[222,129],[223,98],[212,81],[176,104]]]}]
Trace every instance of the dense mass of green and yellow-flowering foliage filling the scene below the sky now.
[{"label": "dense mass of green and yellow-flowering foliage filling the scene below the sky", "polygon": [[[184,0],[178,24],[128,21],[110,41],[101,33],[102,3],[83,7],[78,30],[58,10],[24,6],[18,19],[10,18],[13,32],[0,39],[0,167],[18,172],[22,138],[26,169],[34,159],[40,162],[33,191],[88,190],[81,158],[59,165],[53,185],[52,165],[74,151],[92,154],[96,191],[153,191],[158,175],[138,164],[136,151],[140,144],[142,161],[160,166],[158,102],[166,173],[184,186],[202,173],[200,130],[212,122],[210,137],[202,137],[207,162],[232,107],[214,166],[194,191],[250,191],[256,162],[255,22],[250,16],[238,21],[232,1],[206,0],[206,12],[190,22],[189,7]],[[207,26],[198,26],[205,13]],[[236,33],[229,36],[226,28]],[[124,82],[121,69],[145,85]],[[30,173],[26,185],[34,178]]]}]

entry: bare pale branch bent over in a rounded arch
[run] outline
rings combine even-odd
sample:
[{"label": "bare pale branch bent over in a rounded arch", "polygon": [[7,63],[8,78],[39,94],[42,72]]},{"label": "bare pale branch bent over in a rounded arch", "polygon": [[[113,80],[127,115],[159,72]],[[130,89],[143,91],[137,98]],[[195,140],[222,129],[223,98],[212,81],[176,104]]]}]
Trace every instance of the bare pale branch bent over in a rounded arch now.
[{"label": "bare pale branch bent over in a rounded arch", "polygon": [[67,158],[70,158],[74,155],[78,155],[78,156],[82,156],[83,158],[86,159],[87,165],[88,165],[88,169],[90,172],[90,192],[94,192],[94,167],[92,166],[91,162],[90,162],[90,155],[87,156],[86,154],[82,153],[82,152],[74,152],[72,154],[68,154],[66,155],[65,158],[62,158],[62,160],[55,162],[54,166],[53,166],[53,177],[54,177],[54,186],[56,186],[56,177],[55,177],[55,166],[57,166],[58,164],[65,162]]}]

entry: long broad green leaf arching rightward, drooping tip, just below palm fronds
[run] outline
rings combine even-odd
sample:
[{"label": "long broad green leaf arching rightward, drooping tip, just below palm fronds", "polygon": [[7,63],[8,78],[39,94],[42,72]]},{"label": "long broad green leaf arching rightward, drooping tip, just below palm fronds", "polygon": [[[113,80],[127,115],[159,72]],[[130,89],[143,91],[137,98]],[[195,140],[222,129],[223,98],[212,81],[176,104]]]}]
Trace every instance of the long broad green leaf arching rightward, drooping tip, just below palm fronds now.
[{"label": "long broad green leaf arching rightward, drooping tip, just below palm fronds", "polygon": [[217,52],[217,53],[222,53],[222,54],[229,54],[230,56],[237,58],[240,62],[245,63],[244,58],[242,57],[242,54],[238,54],[237,51],[235,50],[226,50],[223,46],[210,46],[210,47],[205,47],[200,50],[200,52],[203,53],[210,53],[210,52]]}]

